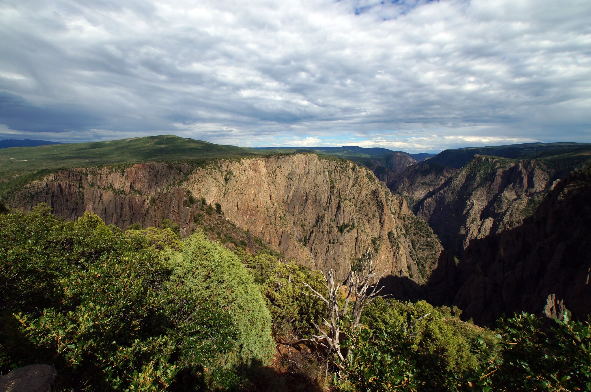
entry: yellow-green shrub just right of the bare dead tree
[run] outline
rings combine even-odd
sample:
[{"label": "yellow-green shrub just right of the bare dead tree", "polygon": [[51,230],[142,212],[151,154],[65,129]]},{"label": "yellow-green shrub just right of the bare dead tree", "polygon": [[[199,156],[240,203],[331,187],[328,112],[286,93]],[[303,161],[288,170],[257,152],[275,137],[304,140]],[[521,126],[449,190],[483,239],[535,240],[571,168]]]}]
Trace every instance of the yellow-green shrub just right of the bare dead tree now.
[{"label": "yellow-green shrub just right of the bare dead tree", "polygon": [[[413,334],[405,335],[405,325],[426,314],[428,317],[413,326]],[[498,350],[492,331],[468,325],[457,317],[444,318],[439,309],[425,301],[413,304],[379,298],[365,309],[362,322],[368,325],[369,335],[361,334],[359,338],[365,337],[370,345],[382,347],[404,338],[397,348],[388,348],[394,351],[382,354],[404,358],[417,390],[457,390],[463,375],[492,355],[480,353],[481,342],[487,342],[494,352]]]}]

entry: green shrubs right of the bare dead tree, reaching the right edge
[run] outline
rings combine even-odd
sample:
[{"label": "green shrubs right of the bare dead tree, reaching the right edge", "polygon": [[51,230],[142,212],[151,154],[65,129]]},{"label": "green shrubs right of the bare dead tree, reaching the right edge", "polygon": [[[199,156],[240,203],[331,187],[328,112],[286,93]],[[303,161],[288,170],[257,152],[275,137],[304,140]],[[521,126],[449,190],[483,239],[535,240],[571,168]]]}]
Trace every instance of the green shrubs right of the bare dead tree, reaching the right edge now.
[{"label": "green shrubs right of the bare dead tree, reaching the right edge", "polygon": [[[591,324],[569,312],[545,328],[522,313],[501,320],[499,334],[439,309],[376,299],[369,328],[345,330],[350,353],[340,390],[587,391],[591,390]],[[428,317],[414,321],[424,314]]]}]

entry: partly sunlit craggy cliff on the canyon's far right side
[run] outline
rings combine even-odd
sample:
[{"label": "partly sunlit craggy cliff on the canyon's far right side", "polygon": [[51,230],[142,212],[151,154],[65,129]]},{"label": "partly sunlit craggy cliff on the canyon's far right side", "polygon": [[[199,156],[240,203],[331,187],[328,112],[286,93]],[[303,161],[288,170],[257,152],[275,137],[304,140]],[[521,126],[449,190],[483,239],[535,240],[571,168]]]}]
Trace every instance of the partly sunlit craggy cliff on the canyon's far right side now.
[{"label": "partly sunlit craggy cliff on the canyon's far right side", "polygon": [[552,186],[553,175],[536,160],[482,155],[460,170],[428,163],[413,170],[412,180],[398,183],[398,192],[417,200],[417,216],[456,254],[473,239],[521,225]]}]

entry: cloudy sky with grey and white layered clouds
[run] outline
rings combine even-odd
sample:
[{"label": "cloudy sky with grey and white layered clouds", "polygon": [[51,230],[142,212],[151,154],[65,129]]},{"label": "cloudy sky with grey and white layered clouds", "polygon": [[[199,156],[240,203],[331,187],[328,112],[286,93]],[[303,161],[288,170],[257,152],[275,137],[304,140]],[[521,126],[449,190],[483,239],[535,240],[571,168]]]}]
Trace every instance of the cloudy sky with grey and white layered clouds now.
[{"label": "cloudy sky with grey and white layered clouds", "polygon": [[0,139],[591,142],[589,0],[0,0]]}]

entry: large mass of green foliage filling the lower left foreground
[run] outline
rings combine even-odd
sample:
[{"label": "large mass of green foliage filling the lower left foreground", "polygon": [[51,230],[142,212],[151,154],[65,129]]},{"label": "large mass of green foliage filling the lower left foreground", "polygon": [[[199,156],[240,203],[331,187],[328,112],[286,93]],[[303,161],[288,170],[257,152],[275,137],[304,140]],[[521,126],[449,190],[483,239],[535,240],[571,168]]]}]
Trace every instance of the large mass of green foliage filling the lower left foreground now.
[{"label": "large mass of green foliage filling the lower left foreground", "polygon": [[235,258],[200,239],[188,252],[209,253],[189,270],[150,243],[178,244],[170,230],[126,234],[43,205],[0,215],[0,371],[43,360],[66,390],[200,390],[238,382],[232,364],[268,357],[268,311]]}]

